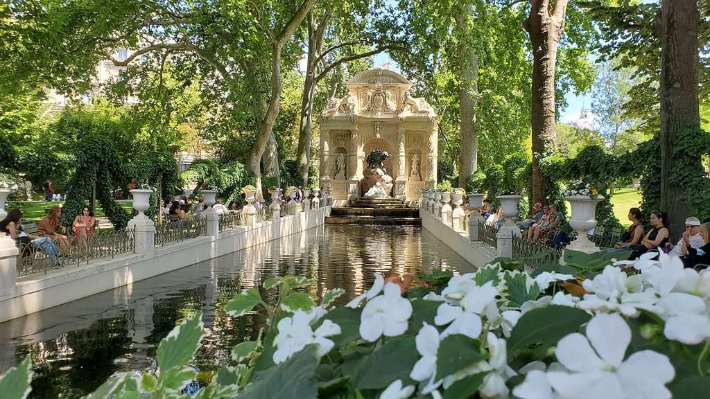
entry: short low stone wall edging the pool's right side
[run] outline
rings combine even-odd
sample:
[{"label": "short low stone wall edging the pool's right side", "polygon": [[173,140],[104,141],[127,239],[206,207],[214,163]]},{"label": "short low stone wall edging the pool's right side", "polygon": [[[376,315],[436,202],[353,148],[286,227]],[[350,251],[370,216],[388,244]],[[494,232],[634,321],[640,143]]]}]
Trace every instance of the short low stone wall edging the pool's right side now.
[{"label": "short low stone wall edging the pool's right side", "polygon": [[454,231],[452,226],[444,224],[434,214],[427,212],[427,209],[420,209],[420,217],[422,228],[430,231],[476,268],[486,266],[486,263],[490,263],[498,256],[495,249],[482,241],[471,241],[467,232]]}]

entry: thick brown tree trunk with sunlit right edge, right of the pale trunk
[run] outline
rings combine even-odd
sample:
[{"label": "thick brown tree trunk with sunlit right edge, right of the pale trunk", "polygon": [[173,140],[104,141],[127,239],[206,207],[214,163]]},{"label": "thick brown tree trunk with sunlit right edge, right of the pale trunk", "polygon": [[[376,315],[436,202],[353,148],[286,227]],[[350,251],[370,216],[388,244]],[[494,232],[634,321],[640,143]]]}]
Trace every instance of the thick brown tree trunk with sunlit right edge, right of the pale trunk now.
[{"label": "thick brown tree trunk with sunlit right edge, right of the pale trunk", "polygon": [[[554,2],[554,5],[552,3]],[[525,31],[532,43],[532,199],[547,202],[540,158],[555,148],[555,63],[567,0],[532,0]]]}]

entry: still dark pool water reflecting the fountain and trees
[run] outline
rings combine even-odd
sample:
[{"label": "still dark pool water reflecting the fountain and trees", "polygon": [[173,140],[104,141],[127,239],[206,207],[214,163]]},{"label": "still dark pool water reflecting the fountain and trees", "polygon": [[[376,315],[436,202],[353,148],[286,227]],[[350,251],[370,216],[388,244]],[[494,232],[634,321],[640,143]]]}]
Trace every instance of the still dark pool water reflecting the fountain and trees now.
[{"label": "still dark pool water reflecting the fountain and trees", "polygon": [[223,311],[242,288],[278,275],[305,275],[316,297],[344,288],[344,303],[371,286],[373,273],[391,268],[400,274],[472,270],[420,227],[321,226],[0,324],[0,373],[31,356],[31,397],[79,398],[113,373],[154,366],[160,339],[198,311],[206,334],[195,366],[214,370],[265,323]]}]

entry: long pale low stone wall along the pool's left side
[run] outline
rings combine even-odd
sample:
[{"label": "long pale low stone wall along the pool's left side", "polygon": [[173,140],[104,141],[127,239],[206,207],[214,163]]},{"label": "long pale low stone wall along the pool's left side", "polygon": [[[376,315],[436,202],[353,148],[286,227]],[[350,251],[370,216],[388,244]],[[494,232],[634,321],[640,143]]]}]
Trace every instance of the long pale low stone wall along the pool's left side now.
[{"label": "long pale low stone wall along the pool's left side", "polygon": [[48,275],[19,278],[14,292],[0,299],[0,322],[312,229],[323,224],[330,209],[321,207],[298,212],[278,220],[259,222],[253,227],[239,226],[217,235],[161,246],[145,254],[116,256],[109,261],[55,270]]}]

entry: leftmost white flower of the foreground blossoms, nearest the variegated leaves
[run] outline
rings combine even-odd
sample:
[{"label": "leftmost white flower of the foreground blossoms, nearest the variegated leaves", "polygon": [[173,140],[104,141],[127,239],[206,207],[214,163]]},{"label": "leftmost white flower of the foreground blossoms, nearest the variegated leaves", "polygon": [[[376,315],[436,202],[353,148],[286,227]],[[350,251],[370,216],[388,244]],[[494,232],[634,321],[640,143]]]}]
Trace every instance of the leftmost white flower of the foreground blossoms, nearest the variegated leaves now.
[{"label": "leftmost white flower of the foreground blossoms, nearest the variegated leaves", "polygon": [[274,339],[277,346],[273,354],[273,362],[279,364],[291,355],[301,351],[309,344],[318,345],[318,355],[327,354],[335,345],[326,337],[340,334],[340,326],[330,320],[324,320],[315,332],[310,326],[317,312],[296,310],[293,317],[284,317],[278,322],[278,335]]}]

